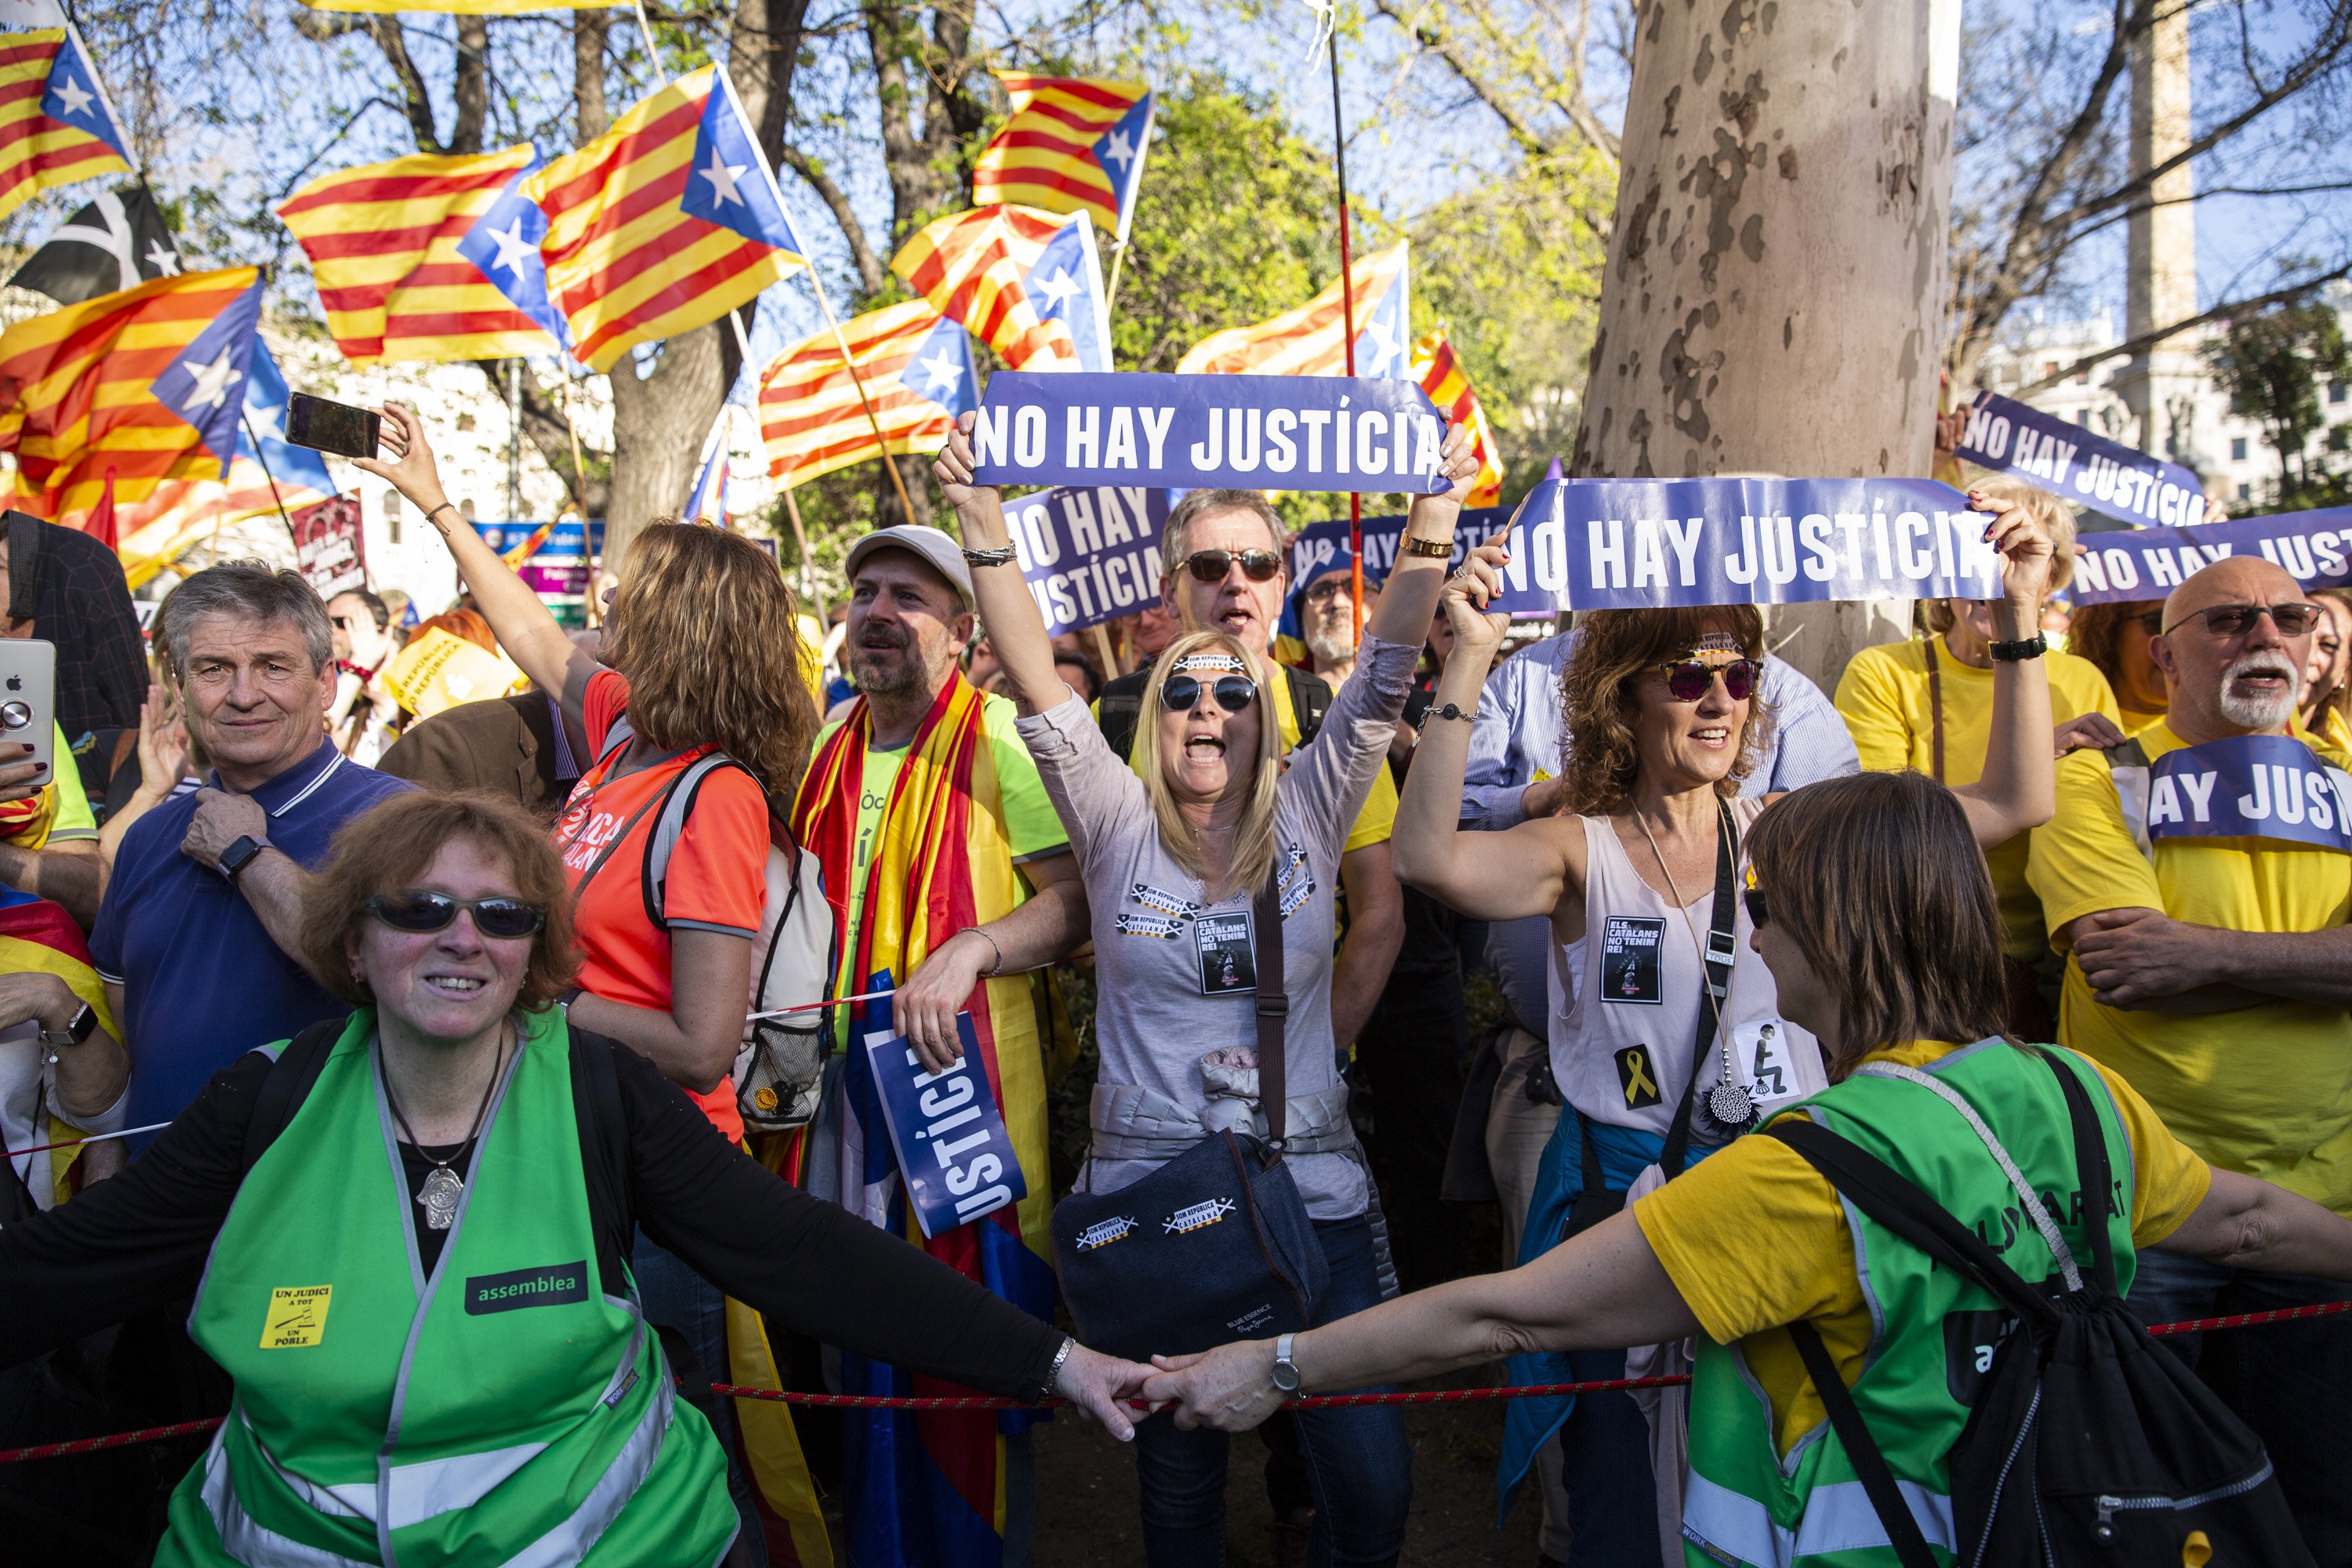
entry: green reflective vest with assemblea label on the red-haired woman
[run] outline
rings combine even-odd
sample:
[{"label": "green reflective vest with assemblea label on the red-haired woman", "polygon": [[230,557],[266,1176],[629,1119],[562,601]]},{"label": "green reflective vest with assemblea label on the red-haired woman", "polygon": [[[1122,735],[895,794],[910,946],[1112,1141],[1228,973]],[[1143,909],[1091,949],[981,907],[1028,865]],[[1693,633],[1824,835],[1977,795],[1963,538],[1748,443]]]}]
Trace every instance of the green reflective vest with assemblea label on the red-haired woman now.
[{"label": "green reflective vest with assemblea label on the red-haired woman", "polygon": [[[724,1460],[602,1291],[572,1041],[522,1016],[430,1274],[362,1009],[245,1175],[188,1333],[235,1378],[158,1563],[713,1563]],[[630,1293],[635,1295],[635,1291]]]}]

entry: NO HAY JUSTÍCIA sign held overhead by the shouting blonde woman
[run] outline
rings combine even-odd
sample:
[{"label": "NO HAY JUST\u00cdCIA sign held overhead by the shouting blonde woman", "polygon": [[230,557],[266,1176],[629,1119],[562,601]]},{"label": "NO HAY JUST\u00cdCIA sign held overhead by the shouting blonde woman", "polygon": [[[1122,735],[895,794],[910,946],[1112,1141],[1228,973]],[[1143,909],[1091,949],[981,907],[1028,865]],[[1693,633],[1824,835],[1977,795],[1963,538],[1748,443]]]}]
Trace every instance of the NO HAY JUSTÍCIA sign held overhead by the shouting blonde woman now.
[{"label": "NO HAY JUST\u00cdCIA sign held overhead by the shouting blonde woman", "polygon": [[978,484],[1435,494],[1444,435],[1411,381],[997,371],[971,454]]}]

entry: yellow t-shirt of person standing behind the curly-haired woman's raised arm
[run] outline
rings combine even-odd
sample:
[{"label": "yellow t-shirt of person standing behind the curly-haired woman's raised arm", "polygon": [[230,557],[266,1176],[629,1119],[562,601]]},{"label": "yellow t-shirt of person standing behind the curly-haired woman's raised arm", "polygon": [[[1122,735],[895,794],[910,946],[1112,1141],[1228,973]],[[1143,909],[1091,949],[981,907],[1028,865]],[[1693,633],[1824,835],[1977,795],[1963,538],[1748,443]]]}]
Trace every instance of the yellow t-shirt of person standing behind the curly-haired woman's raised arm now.
[{"label": "yellow t-shirt of person standing behind the curly-haired woman's raised arm", "polygon": [[[1940,642],[1940,639],[1938,639]],[[2051,682],[2051,719],[2063,724],[2086,712],[2103,712],[2122,724],[2107,677],[2089,658],[2044,654]],[[1992,670],[1976,670],[1952,658],[1950,646],[1936,649],[1943,672],[1943,783],[1971,785],[1985,771],[1985,743],[1992,738]],[[1926,642],[1889,642],[1863,649],[1837,682],[1837,712],[1846,719],[1853,750],[1872,773],[1936,769],[1936,705],[1926,686]],[[2004,952],[2034,964],[2049,938],[2042,931],[2042,903],[2025,884],[2030,832],[1985,851],[1992,891],[2002,900]]]}]

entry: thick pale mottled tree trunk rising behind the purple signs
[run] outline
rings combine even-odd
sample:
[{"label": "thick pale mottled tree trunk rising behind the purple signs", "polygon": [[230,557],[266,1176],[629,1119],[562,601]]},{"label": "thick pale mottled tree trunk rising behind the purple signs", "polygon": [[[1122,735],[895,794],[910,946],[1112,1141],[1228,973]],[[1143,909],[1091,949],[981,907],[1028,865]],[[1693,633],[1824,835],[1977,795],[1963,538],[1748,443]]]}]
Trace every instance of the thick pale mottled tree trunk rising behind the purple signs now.
[{"label": "thick pale mottled tree trunk rising behind the purple signs", "polygon": [[[1957,0],[1642,0],[1578,477],[1926,475]],[[1773,614],[1835,689],[1907,602]]]}]

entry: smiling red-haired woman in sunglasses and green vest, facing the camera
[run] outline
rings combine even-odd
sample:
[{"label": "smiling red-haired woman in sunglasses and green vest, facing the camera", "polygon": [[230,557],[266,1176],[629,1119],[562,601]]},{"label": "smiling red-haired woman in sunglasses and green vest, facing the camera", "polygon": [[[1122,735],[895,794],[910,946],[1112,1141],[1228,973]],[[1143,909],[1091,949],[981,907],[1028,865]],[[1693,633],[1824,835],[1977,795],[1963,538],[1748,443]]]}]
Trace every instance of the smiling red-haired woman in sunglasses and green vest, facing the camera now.
[{"label": "smiling red-haired woman in sunglasses and green vest, facing the camera", "polygon": [[158,1563],[720,1561],[736,1509],[640,1312],[640,1225],[800,1333],[1131,1434],[1115,1401],[1150,1368],[788,1187],[567,1025],[562,867],[517,806],[383,802],[303,914],[350,1018],[247,1056],[127,1173],[0,1232],[0,1361],[195,1291],[235,1403]]}]

